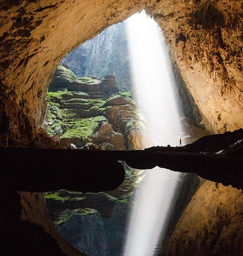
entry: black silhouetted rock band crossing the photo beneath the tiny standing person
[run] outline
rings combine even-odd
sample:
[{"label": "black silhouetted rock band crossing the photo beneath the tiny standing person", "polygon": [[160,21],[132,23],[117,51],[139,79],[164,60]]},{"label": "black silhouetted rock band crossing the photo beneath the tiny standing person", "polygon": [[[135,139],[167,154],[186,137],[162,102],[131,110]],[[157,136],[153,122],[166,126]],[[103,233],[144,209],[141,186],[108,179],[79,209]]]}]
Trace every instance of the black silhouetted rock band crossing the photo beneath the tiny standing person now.
[{"label": "black silhouetted rock band crossing the photo beneath the tiny standing person", "polygon": [[[209,135],[183,147],[158,146],[144,151],[1,148],[1,185],[27,191],[57,190],[60,186],[83,192],[111,190],[124,180],[124,169],[117,161],[125,160],[133,168],[159,166],[242,188],[242,148],[242,129]],[[41,172],[33,173],[38,168]]]}]

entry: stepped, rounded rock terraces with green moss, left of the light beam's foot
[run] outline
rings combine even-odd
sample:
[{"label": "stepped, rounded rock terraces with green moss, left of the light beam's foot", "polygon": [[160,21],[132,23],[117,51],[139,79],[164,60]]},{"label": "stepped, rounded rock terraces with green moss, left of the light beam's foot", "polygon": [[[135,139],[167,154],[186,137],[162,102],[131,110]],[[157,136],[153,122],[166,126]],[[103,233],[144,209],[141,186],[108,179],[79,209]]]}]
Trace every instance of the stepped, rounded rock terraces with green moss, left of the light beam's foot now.
[{"label": "stepped, rounded rock terraces with green moss, left of the light beam's foot", "polygon": [[[60,76],[60,69],[66,70],[63,76]],[[70,72],[62,66],[57,69],[51,83],[56,84],[54,91],[63,89],[63,82]],[[53,91],[52,88],[49,90]],[[131,96],[119,94],[113,75],[102,80],[80,77],[66,84],[66,91],[49,92],[47,99],[50,109],[47,132],[60,137],[61,144],[67,147],[70,143],[77,147],[95,144],[105,150],[144,148],[142,143],[133,145],[135,139],[132,135],[137,131],[137,141],[146,136],[142,117]]]}]

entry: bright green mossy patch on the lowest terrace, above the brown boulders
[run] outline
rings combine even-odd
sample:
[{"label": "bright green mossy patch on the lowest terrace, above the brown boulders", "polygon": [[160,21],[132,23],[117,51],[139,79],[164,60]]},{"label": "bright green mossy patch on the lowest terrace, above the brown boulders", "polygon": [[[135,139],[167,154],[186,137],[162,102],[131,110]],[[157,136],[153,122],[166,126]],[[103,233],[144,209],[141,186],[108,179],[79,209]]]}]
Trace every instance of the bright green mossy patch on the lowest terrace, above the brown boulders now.
[{"label": "bright green mossy patch on the lowest terrace, above the brown boulders", "polygon": [[63,138],[87,138],[94,135],[98,130],[100,122],[105,121],[104,116],[96,116],[90,118],[73,118],[66,120],[67,131],[62,135]]}]

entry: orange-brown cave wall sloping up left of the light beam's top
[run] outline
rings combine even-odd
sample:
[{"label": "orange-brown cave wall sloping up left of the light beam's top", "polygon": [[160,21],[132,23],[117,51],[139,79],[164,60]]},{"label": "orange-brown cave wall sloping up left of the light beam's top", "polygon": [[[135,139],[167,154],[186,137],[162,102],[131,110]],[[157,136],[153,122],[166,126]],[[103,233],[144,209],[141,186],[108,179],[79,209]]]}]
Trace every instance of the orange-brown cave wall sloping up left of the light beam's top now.
[{"label": "orange-brown cave wall sloping up left of the light beam's top", "polygon": [[145,1],[1,1],[1,93],[40,126],[48,83],[67,52],[141,10]]}]

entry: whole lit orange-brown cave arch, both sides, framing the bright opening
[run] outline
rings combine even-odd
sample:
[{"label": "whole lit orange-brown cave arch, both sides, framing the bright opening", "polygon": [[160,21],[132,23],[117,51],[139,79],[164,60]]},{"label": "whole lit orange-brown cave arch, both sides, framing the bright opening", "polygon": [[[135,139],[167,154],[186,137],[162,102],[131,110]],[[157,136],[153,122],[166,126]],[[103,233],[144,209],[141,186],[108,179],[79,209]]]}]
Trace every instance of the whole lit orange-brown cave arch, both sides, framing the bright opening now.
[{"label": "whole lit orange-brown cave arch, both sides, framing the bright opening", "polygon": [[162,28],[203,124],[214,133],[239,129],[242,5],[203,0],[1,1],[1,95],[40,127],[48,83],[66,53],[145,9]]}]

